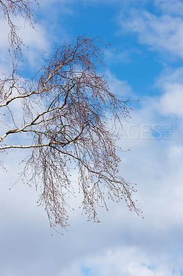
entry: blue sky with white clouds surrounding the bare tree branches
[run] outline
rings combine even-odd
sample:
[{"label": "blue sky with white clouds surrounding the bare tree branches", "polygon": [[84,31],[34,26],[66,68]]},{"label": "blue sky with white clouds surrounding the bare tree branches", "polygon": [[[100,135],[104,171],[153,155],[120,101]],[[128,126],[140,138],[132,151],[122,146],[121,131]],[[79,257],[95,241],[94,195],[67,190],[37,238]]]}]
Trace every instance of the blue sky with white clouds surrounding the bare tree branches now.
[{"label": "blue sky with white clouds surrounding the bare tree branches", "polygon": [[[23,77],[43,65],[64,39],[79,35],[111,43],[103,71],[111,91],[132,102],[120,133],[120,174],[137,184],[144,219],[123,202],[98,210],[100,223],[69,211],[68,232],[50,233],[34,187],[19,181],[23,152],[2,155],[0,181],[0,275],[183,275],[183,1],[41,0],[34,5],[36,30],[19,20]],[[1,19],[0,71],[8,27]],[[130,149],[130,151],[128,151]],[[77,206],[77,202],[74,202]]]}]

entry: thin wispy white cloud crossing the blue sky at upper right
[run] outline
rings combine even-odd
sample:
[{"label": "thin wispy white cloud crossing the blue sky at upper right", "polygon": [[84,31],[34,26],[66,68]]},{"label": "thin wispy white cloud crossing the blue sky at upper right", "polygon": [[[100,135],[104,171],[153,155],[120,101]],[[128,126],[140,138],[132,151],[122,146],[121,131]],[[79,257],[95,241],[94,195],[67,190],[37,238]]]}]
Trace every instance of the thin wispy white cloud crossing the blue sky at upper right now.
[{"label": "thin wispy white cloud crossing the blue sky at upper right", "polygon": [[140,43],[151,50],[183,58],[183,20],[169,14],[157,16],[145,10],[131,10],[129,17],[120,17],[123,31],[138,34]]}]

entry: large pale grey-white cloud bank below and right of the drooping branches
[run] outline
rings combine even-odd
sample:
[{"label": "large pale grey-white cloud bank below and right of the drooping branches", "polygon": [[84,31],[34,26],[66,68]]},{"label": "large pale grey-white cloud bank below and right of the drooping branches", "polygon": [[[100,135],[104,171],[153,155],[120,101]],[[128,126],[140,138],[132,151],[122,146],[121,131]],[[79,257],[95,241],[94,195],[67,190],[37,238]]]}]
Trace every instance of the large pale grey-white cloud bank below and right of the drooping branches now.
[{"label": "large pale grey-white cloud bank below and right of the drooping branches", "polygon": [[[115,90],[133,94],[127,82],[110,77]],[[164,124],[164,119],[156,116],[159,106],[155,99],[146,98],[140,105],[126,126]],[[182,129],[174,129],[171,139],[127,137],[120,146],[131,148],[131,152],[120,154],[120,172],[127,181],[138,183],[134,198],[139,199],[138,207],[144,210],[145,218],[129,213],[124,203],[109,203],[109,213],[99,210],[101,223],[92,224],[76,208],[70,217],[69,233],[63,237],[50,237],[47,217],[42,208],[36,207],[32,189],[19,183],[11,192],[8,190],[19,160],[16,151],[6,156],[12,170],[1,176],[1,275],[9,271],[19,276],[81,276],[89,268],[91,275],[99,276],[165,276],[171,275],[173,267],[181,268]],[[175,250],[180,253],[175,255]],[[11,269],[7,271],[8,267]],[[175,276],[179,275],[176,269]]]}]

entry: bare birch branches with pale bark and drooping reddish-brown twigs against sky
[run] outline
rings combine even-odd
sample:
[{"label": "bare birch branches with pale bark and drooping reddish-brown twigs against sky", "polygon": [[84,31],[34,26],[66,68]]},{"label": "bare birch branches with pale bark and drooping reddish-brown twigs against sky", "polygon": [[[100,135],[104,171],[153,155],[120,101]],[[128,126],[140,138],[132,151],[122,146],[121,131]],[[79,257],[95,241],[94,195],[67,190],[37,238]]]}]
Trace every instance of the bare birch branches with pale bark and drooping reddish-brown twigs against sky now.
[{"label": "bare birch branches with pale bark and drooping reddish-brown twigs against sky", "polygon": [[[15,1],[25,6],[26,2],[30,3]],[[88,219],[98,221],[96,209],[107,209],[107,199],[124,199],[130,210],[140,214],[131,198],[133,185],[118,173],[116,154],[115,126],[119,123],[122,128],[122,119],[129,116],[129,100],[116,97],[98,73],[105,66],[104,45],[85,35],[73,43],[65,41],[32,79],[23,79],[14,66],[11,75],[0,81],[1,122],[6,117],[11,121],[0,138],[0,152],[28,150],[21,179],[30,186],[41,186],[38,203],[45,207],[51,228],[68,225],[67,199],[76,189],[73,168]],[[21,124],[14,103],[21,106]],[[29,144],[22,139],[8,144],[8,137],[22,133],[31,135]]]}]

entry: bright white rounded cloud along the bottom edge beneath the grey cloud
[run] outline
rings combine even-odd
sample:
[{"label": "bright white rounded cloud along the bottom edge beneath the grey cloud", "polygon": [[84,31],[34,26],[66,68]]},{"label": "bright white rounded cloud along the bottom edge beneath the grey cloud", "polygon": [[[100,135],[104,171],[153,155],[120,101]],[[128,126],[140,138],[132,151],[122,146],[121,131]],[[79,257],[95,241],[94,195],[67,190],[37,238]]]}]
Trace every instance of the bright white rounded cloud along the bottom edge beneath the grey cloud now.
[{"label": "bright white rounded cloud along the bottom edge beneath the grey cloud", "polygon": [[[167,263],[166,267],[161,268],[164,265],[164,257],[161,255],[159,257],[157,262],[153,255],[147,255],[139,248],[134,246],[118,246],[117,248],[107,250],[105,253],[89,255],[80,260],[80,262],[74,262],[70,267],[62,270],[59,276],[172,275],[173,268]],[[173,275],[180,275],[180,271],[174,268]]]}]

